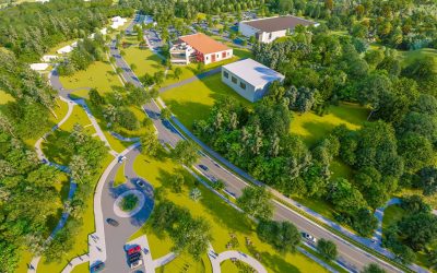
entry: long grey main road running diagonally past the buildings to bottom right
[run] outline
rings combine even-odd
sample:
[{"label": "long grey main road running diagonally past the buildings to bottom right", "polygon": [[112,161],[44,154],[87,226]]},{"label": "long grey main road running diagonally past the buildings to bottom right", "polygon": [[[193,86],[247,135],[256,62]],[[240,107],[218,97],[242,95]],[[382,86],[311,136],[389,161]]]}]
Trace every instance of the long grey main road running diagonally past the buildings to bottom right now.
[{"label": "long grey main road running diagonally past the buildings to bottom right", "polygon": [[[116,66],[123,70],[122,76],[127,82],[134,84],[135,86],[143,87],[141,82],[138,80],[137,75],[131,71],[129,66],[119,55],[117,48],[115,48],[115,41],[113,41],[110,46],[110,55],[116,59]],[[161,142],[168,143],[170,145],[175,145],[178,141],[184,138],[172,127],[168,121],[162,121],[160,119],[160,108],[155,104],[155,102],[151,102],[143,106],[146,114],[152,118],[154,126],[158,131],[158,139]],[[221,179],[226,185],[226,190],[231,192],[233,195],[238,197],[241,193],[241,190],[247,187],[247,183],[240,180],[239,178],[232,175],[229,171],[224,169],[217,163],[209,158],[208,156],[201,156],[198,163],[199,165],[204,165],[208,167],[208,170],[202,173],[210,178]],[[351,244],[341,240],[335,235],[331,234],[327,229],[316,225],[311,221],[304,218],[302,215],[296,212],[282,206],[279,203],[274,203],[275,219],[290,221],[294,223],[300,230],[312,234],[316,238],[326,238],[333,240],[339,250],[339,256],[342,260],[344,260],[347,264],[352,265],[356,270],[362,270],[364,265],[369,263],[378,263],[388,272],[401,272],[400,270],[382,262],[381,260],[370,256],[369,253],[352,246]]]}]

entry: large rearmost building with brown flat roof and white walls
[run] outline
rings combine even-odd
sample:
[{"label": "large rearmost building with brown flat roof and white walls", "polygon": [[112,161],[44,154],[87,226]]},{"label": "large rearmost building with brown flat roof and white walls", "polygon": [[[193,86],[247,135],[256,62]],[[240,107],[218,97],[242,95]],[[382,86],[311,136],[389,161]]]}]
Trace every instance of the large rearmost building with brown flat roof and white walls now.
[{"label": "large rearmost building with brown flat roof and white walls", "polygon": [[279,37],[284,37],[287,32],[293,33],[297,25],[319,26],[319,23],[286,15],[241,21],[238,24],[238,31],[246,37],[255,36],[258,41],[271,43]]}]

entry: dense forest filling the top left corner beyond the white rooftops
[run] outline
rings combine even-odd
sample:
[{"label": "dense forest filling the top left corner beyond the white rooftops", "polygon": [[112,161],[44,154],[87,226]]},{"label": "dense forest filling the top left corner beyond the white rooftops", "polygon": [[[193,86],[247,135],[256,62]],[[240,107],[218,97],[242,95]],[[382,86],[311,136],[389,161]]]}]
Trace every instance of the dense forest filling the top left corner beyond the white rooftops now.
[{"label": "dense forest filling the top left corner beyond the white rooftops", "polygon": [[0,10],[0,46],[32,62],[61,41],[87,37],[110,16],[132,13],[132,9],[113,5],[110,0],[23,3]]}]

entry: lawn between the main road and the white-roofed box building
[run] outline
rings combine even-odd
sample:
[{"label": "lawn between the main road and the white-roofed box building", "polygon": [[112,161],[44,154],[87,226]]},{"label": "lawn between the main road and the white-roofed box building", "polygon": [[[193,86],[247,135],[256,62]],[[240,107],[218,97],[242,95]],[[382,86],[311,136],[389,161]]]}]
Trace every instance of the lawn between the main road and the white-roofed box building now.
[{"label": "lawn between the main road and the white-roofed box building", "polygon": [[189,129],[194,120],[208,118],[214,102],[220,98],[231,97],[250,106],[248,100],[222,83],[220,73],[166,91],[161,97]]}]

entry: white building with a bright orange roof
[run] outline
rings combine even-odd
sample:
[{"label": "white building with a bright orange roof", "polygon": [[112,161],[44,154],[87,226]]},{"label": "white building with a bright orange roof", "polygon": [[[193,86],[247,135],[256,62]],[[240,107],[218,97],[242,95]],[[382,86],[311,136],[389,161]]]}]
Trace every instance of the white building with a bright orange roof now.
[{"label": "white building with a bright orange roof", "polygon": [[[203,33],[180,36],[177,44],[185,44],[184,47],[186,47],[186,49],[182,50],[186,50],[185,59],[188,60],[188,63],[191,61],[199,61],[203,62],[204,64],[209,64],[233,57],[232,48],[216,41]],[[170,56],[173,54],[175,54],[175,56],[179,56],[178,54],[181,54],[179,47],[175,47],[174,49],[175,51],[172,51],[170,49]],[[184,57],[179,56],[179,58]]]}]

